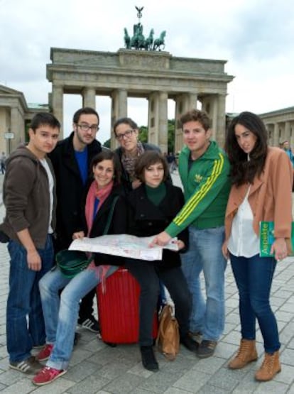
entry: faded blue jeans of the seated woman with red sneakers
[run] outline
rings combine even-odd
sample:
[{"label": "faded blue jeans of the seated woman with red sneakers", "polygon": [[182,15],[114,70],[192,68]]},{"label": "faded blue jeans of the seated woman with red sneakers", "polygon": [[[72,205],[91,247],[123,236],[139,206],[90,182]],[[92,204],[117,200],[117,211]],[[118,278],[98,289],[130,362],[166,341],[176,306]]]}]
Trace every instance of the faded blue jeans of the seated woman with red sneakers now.
[{"label": "faded blue jeans of the seated woman with red sneakers", "polygon": [[[107,276],[118,268],[110,266]],[[59,268],[54,267],[40,280],[46,343],[54,344],[47,366],[67,369],[75,338],[80,299],[99,282],[98,271],[91,268],[83,270],[74,278],[66,278]],[[59,290],[62,288],[64,290],[59,295]]]}]

